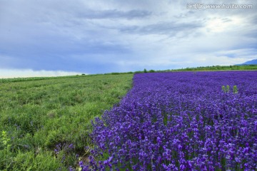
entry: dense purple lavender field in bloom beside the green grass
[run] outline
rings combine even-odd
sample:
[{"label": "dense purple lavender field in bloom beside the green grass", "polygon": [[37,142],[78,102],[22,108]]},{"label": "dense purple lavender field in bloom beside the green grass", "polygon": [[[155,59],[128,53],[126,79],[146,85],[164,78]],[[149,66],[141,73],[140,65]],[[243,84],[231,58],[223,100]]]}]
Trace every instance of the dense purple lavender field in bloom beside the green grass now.
[{"label": "dense purple lavender field in bloom beside the green grass", "polygon": [[82,170],[256,170],[257,72],[141,73]]}]

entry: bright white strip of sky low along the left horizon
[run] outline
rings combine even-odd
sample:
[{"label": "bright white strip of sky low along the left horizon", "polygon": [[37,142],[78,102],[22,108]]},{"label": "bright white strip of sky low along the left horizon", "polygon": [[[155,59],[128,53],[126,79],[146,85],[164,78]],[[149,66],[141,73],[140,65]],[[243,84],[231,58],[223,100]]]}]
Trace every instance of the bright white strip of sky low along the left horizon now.
[{"label": "bright white strip of sky low along the left horizon", "polygon": [[25,78],[25,77],[53,77],[53,76],[75,76],[78,72],[67,71],[33,71],[31,69],[1,69],[0,78]]}]

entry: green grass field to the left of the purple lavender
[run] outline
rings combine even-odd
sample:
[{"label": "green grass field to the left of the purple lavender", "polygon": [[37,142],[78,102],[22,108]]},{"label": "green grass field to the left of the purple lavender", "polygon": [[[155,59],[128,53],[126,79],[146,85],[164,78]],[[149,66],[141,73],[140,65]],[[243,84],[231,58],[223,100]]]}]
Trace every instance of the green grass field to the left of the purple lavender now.
[{"label": "green grass field to the left of the purple lavender", "polygon": [[[91,147],[91,120],[126,95],[133,74],[2,81],[0,170],[66,170]],[[58,147],[56,147],[58,145]]]}]

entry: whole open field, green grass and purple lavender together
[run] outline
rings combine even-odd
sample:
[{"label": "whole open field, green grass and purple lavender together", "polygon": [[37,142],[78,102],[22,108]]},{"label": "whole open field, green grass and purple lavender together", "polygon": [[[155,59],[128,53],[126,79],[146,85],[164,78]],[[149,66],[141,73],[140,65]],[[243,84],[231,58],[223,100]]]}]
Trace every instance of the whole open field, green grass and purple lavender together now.
[{"label": "whole open field, green grass and purple lavender together", "polygon": [[3,81],[0,170],[256,169],[256,71],[147,72]]}]

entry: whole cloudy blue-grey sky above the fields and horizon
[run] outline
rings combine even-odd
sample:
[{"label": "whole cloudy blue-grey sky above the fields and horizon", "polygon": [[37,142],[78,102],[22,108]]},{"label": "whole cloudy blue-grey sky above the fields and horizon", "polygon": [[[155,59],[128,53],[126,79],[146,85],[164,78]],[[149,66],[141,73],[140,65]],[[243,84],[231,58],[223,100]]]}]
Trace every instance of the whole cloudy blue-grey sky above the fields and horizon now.
[{"label": "whole cloudy blue-grey sky above the fields and horizon", "polygon": [[0,78],[228,66],[256,45],[256,0],[0,0]]}]

